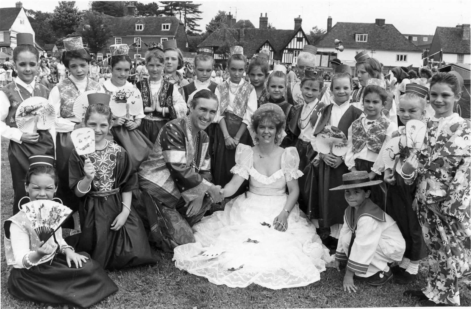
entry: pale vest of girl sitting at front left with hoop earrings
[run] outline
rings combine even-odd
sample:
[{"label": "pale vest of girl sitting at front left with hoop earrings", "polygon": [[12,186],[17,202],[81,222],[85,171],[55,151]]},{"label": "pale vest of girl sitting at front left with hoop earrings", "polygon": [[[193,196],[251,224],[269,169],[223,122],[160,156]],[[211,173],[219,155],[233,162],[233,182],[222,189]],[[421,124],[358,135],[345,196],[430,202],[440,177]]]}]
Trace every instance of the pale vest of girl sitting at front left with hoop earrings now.
[{"label": "pale vest of girl sitting at front left with hoop earrings", "polygon": [[[28,217],[26,217],[26,214],[24,214],[24,212],[20,211],[19,213],[10,217],[8,220],[5,221],[3,225],[3,229],[5,232],[5,237],[3,241],[5,245],[5,257],[7,258],[7,265],[16,264],[15,255],[13,254],[13,248],[11,247],[11,239],[10,239],[10,224],[12,222],[18,225],[20,229],[28,233],[29,238],[30,238],[30,250],[32,251],[37,250],[39,248],[39,244],[41,243],[41,241],[38,238],[38,234],[32,229],[31,222],[29,221]],[[57,244],[54,244],[54,246],[57,248]],[[54,257],[54,253],[51,255],[45,255],[41,258],[40,263],[49,261],[50,259],[52,259],[52,257]]]}]

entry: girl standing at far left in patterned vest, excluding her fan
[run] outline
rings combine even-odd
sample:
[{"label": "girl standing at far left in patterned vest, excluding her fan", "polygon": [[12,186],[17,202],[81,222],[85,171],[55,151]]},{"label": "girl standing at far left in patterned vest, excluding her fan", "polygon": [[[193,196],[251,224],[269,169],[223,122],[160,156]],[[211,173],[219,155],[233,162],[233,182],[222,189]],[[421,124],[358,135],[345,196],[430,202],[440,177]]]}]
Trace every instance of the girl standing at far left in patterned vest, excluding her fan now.
[{"label": "girl standing at far left in patterned vest, excluding her fan", "polygon": [[16,214],[18,203],[24,197],[24,176],[29,168],[28,158],[33,154],[54,156],[54,129],[39,130],[37,133],[23,133],[16,127],[16,109],[25,99],[32,96],[48,98],[49,90],[34,81],[38,69],[39,52],[33,46],[30,33],[17,34],[18,45],[13,50],[18,76],[0,89],[0,126],[1,136],[8,138],[8,161],[10,162],[13,182],[13,214]]}]

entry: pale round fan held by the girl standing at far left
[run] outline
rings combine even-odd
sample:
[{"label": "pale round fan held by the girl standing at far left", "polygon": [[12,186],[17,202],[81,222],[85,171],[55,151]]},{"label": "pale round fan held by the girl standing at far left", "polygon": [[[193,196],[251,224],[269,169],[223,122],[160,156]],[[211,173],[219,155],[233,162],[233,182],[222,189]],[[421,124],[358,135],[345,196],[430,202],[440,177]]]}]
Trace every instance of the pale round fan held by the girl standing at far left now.
[{"label": "pale round fan held by the girl standing at far left", "polygon": [[32,96],[18,105],[15,119],[21,132],[36,133],[37,130],[49,130],[54,126],[56,111],[48,99]]}]

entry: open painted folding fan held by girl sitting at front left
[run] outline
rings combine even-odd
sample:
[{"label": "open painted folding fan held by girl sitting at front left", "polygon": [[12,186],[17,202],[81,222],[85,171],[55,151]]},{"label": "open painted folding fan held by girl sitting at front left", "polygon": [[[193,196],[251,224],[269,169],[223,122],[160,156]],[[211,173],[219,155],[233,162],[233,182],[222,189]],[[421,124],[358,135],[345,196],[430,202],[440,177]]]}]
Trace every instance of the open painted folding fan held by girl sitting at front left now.
[{"label": "open painted folding fan held by girl sitting at front left", "polygon": [[38,199],[24,204],[21,208],[38,234],[39,240],[44,242],[48,241],[72,214],[69,207],[48,199]]}]

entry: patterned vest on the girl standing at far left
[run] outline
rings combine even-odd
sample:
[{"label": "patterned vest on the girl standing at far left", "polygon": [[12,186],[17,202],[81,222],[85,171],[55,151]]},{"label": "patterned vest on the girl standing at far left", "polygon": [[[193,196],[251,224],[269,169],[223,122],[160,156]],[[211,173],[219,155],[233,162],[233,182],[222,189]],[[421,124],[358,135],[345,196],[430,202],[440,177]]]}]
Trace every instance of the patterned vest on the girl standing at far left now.
[{"label": "patterned vest on the girl standing at far left", "polygon": [[[12,82],[0,89],[7,95],[8,101],[10,101],[10,107],[8,108],[8,116],[5,119],[5,123],[8,127],[16,127],[15,114],[18,105],[23,102],[21,97],[23,97],[23,99],[25,100],[32,96],[41,96],[46,99],[49,97],[49,89],[44,85],[41,85],[40,83],[34,84],[34,90],[32,92],[32,95],[29,93],[28,90],[24,89],[23,86],[18,85],[18,90],[16,90],[15,88],[16,85]],[[20,92],[21,96],[20,94],[18,94],[18,91]]]}]

